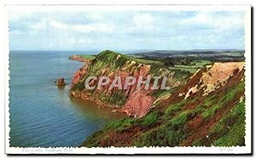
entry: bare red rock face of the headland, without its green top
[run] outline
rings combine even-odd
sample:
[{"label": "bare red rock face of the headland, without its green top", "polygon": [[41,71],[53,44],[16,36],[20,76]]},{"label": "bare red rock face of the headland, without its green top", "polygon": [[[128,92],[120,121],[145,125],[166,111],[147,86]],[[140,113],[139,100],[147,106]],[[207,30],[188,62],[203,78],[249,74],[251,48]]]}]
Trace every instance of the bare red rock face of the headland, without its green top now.
[{"label": "bare red rock face of the headland, without its green top", "polygon": [[[128,72],[128,67],[125,68],[127,65],[123,65],[122,68],[117,69],[115,71],[109,72],[109,67],[106,67],[100,71],[98,76],[107,75],[110,79],[108,85],[102,86],[101,89],[94,90],[94,94],[88,93],[86,90],[80,91],[72,91],[71,96],[79,98],[79,99],[89,99],[95,101],[98,105],[102,106],[112,106],[112,107],[122,107],[121,109],[117,110],[119,112],[124,112],[127,116],[135,116],[135,117],[142,117],[144,116],[149,110],[150,106],[153,103],[153,97],[147,95],[151,92],[151,90],[144,91],[144,90],[137,90],[137,82],[132,85],[128,86],[127,89],[121,91],[121,96],[119,98],[127,99],[122,105],[117,105],[116,103],[109,104],[108,101],[104,101],[101,99],[102,94],[111,98],[114,94],[119,92],[118,88],[108,89],[113,82],[114,77],[120,77],[122,82],[122,88],[125,86],[125,77],[133,76],[137,79],[139,77],[146,77],[148,75],[148,71],[150,70],[150,65],[140,65],[137,67],[137,70],[134,72]],[[83,68],[76,71],[73,76],[73,86],[76,85],[79,80],[86,74],[89,65],[84,65]],[[131,68],[131,67],[129,67]],[[96,81],[91,81],[90,85],[95,85]],[[142,88],[145,87],[142,84]],[[108,100],[108,99],[107,99]],[[117,101],[118,103],[119,101]],[[136,104],[136,105],[135,105]]]}]

